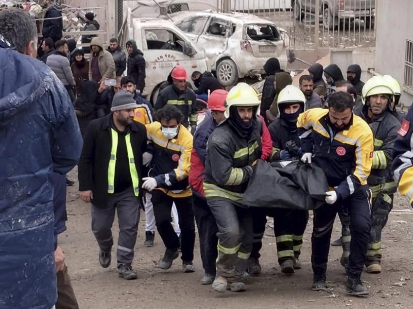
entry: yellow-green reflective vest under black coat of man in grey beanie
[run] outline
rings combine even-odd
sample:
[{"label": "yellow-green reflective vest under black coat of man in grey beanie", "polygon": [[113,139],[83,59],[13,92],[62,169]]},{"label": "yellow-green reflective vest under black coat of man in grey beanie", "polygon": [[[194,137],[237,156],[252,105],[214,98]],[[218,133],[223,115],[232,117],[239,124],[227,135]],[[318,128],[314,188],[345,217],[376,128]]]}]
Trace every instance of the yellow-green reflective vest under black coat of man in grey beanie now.
[{"label": "yellow-green reflective vest under black coat of man in grey beanie", "polygon": [[[107,193],[115,193],[115,167],[116,167],[116,152],[118,150],[118,132],[114,129],[112,131],[112,149],[110,151],[109,167],[107,170]],[[135,192],[135,196],[139,196],[139,178],[138,171],[136,170],[135,158],[133,156],[131,135],[128,133],[125,136],[126,149],[129,158],[129,171],[131,173],[132,185]]]}]

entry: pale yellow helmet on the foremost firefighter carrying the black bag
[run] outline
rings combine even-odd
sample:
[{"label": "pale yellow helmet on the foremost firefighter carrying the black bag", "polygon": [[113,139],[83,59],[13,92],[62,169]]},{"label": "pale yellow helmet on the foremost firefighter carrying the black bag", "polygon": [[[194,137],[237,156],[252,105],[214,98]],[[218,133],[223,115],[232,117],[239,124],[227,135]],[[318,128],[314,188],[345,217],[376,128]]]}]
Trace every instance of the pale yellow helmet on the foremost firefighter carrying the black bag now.
[{"label": "pale yellow helmet on the foremost firefighter carrying the black bag", "polygon": [[225,100],[226,118],[229,117],[229,108],[231,106],[258,106],[258,94],[253,87],[246,83],[239,83],[229,90]]}]

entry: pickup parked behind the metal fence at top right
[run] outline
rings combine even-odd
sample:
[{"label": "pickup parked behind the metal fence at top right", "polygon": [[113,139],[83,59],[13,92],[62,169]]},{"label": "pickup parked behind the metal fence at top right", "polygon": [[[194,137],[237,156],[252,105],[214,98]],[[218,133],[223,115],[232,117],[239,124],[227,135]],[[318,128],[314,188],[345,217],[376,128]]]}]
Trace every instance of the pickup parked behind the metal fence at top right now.
[{"label": "pickup parked behind the metal fence at top right", "polygon": [[[294,17],[301,20],[305,14],[314,15],[316,0],[294,0]],[[323,26],[332,30],[339,22],[363,20],[366,27],[374,27],[375,0],[320,0]]]}]

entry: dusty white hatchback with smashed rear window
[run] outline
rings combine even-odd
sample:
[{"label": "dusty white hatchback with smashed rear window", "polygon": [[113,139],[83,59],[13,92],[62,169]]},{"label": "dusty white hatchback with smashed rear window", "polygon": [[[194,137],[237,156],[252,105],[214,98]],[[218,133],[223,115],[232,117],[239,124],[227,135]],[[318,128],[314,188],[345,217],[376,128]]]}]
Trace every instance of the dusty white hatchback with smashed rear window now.
[{"label": "dusty white hatchback with smashed rear window", "polygon": [[263,74],[270,57],[287,66],[288,37],[274,22],[248,14],[182,12],[171,15],[175,25],[206,51],[211,68],[223,86],[239,78]]}]

